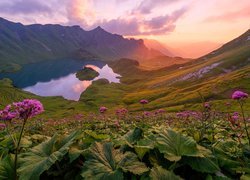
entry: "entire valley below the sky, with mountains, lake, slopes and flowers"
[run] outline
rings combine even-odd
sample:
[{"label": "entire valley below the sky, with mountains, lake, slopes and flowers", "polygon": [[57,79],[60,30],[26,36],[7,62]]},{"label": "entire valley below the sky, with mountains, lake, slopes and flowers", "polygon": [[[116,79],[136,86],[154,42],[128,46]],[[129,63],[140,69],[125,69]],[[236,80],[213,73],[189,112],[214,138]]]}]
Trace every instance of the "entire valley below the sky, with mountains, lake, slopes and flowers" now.
[{"label": "entire valley below the sky, with mountains, lake, slopes and flowers", "polygon": [[0,18],[0,179],[249,179],[249,37],[191,59]]}]

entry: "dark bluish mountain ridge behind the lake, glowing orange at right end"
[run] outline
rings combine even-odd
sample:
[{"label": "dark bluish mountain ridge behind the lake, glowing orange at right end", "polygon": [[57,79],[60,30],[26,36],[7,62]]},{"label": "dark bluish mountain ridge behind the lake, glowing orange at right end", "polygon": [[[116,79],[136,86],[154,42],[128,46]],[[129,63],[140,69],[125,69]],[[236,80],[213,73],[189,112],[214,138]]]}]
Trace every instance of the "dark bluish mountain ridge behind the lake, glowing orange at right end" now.
[{"label": "dark bluish mountain ridge behind the lake, glowing orange at right end", "polygon": [[59,58],[145,59],[161,53],[149,50],[143,40],[125,39],[101,27],[85,31],[80,26],[23,25],[0,18],[0,64],[18,64]]}]

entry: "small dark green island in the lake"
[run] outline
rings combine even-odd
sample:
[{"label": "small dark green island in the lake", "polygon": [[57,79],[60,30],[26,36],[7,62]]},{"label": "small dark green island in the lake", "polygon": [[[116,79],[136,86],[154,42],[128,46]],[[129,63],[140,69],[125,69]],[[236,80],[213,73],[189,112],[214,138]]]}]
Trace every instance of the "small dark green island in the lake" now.
[{"label": "small dark green island in the lake", "polygon": [[84,81],[84,80],[93,80],[95,77],[97,77],[99,75],[99,73],[97,71],[95,71],[93,68],[91,67],[84,67],[84,69],[79,70],[76,73],[76,77],[80,80],[80,81]]}]

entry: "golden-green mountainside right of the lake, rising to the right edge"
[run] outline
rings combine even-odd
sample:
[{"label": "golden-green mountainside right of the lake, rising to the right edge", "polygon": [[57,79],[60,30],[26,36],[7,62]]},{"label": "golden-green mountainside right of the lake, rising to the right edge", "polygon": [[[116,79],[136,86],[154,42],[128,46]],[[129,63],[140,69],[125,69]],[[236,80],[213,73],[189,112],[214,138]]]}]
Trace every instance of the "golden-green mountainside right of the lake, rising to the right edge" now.
[{"label": "golden-green mountainside right of the lake, rising to the right edge", "polygon": [[[148,70],[142,69],[141,64],[132,60],[115,61],[110,66],[122,75],[122,84],[99,86],[94,83],[81,98],[97,107],[101,104],[112,107],[110,101],[100,102],[95,97],[105,94],[106,99],[111,99],[119,95],[115,103],[124,104],[130,110],[142,110],[138,102],[140,99],[148,99],[150,103],[146,106],[147,110],[166,108],[168,111],[179,111],[197,109],[203,97],[205,101],[212,101],[213,108],[226,110],[228,107],[221,104],[231,102],[234,90],[250,92],[249,32],[185,64]],[[236,106],[233,101],[231,103]],[[249,101],[245,108],[250,108]]]}]

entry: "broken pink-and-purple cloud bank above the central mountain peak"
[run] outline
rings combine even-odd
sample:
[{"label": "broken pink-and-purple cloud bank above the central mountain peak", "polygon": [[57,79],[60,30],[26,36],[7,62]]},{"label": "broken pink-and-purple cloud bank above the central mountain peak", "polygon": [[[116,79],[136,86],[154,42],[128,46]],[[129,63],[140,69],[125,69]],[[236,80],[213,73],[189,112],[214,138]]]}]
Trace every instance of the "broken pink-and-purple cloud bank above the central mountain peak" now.
[{"label": "broken pink-and-purple cloud bank above the central mountain peak", "polygon": [[[145,0],[142,1],[137,9],[144,11],[151,4],[154,4],[154,6],[150,6],[152,9],[161,3],[166,4],[174,1],[176,2],[176,0]],[[121,1],[115,0],[115,2]],[[79,24],[86,30],[101,26],[109,32],[127,36],[160,35],[174,31],[176,22],[188,10],[188,8],[184,7],[170,14],[149,17],[138,13],[134,14],[132,11],[117,18],[99,18],[96,20],[95,3],[96,0],[71,0],[67,7],[69,24]]]}]

